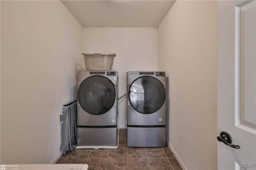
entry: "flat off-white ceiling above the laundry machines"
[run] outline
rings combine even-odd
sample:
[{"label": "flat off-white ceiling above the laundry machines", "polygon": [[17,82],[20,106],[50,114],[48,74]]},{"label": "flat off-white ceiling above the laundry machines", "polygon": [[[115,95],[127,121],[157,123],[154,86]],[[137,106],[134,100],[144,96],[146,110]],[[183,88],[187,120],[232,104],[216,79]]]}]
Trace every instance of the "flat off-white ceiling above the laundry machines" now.
[{"label": "flat off-white ceiling above the laundry machines", "polygon": [[158,27],[176,0],[62,0],[83,27]]}]

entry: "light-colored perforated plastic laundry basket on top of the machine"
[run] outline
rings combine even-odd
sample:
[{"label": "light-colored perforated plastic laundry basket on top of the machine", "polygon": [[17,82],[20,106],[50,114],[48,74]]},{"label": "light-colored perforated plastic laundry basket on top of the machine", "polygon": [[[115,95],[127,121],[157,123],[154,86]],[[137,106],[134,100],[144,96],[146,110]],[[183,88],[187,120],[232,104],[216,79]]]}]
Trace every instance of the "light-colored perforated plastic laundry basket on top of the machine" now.
[{"label": "light-colored perforated plastic laundry basket on top of the machine", "polygon": [[82,53],[88,71],[111,71],[115,53]]}]

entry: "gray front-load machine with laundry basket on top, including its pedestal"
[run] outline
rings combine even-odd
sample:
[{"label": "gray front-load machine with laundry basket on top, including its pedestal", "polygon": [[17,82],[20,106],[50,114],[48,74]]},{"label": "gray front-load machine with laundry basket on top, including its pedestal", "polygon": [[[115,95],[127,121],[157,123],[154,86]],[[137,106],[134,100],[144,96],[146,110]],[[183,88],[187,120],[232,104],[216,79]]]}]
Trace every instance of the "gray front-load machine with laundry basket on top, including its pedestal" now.
[{"label": "gray front-load machine with laundry basket on top, including its pedestal", "polygon": [[78,71],[78,146],[117,145],[117,71]]}]

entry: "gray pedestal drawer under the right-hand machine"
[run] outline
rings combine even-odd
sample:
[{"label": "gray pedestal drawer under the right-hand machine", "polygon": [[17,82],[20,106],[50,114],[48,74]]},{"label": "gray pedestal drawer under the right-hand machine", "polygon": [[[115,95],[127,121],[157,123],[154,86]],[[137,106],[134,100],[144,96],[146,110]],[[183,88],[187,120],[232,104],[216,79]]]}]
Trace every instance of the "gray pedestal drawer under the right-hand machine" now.
[{"label": "gray pedestal drawer under the right-hand machine", "polygon": [[128,147],[162,147],[166,140],[165,127],[127,127]]}]

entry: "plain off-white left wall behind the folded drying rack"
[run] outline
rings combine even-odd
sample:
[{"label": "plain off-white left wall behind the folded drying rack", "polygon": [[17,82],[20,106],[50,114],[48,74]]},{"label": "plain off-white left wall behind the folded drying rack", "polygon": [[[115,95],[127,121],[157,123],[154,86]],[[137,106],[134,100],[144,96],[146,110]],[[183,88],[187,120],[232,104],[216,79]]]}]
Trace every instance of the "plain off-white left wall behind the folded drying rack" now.
[{"label": "plain off-white left wall behind the folded drying rack", "polygon": [[60,1],[1,1],[1,164],[60,156],[81,53],[82,26]]}]

